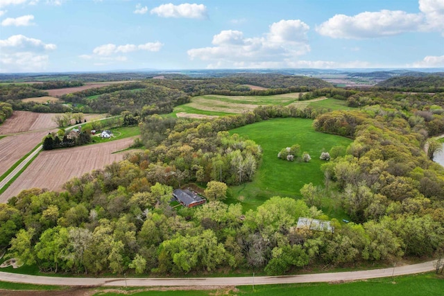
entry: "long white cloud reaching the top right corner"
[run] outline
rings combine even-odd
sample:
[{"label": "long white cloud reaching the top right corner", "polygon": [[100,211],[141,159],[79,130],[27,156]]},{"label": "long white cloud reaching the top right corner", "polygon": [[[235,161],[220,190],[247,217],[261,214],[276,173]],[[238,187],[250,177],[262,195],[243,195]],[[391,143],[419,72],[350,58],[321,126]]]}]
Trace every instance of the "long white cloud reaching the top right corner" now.
[{"label": "long white cloud reaching the top right corner", "polygon": [[334,15],[316,27],[324,36],[364,39],[417,31],[443,31],[444,0],[419,0],[418,13],[402,10],[361,12],[358,15]]}]

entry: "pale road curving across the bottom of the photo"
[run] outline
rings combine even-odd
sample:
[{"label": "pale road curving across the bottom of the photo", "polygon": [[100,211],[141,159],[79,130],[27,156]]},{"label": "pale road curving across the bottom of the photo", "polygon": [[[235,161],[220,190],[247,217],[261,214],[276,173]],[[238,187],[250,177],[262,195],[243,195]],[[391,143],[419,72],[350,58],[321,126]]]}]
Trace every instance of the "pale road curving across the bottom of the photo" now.
[{"label": "pale road curving across the bottom of the photo", "polygon": [[22,284],[56,286],[246,286],[267,284],[295,284],[330,281],[355,281],[398,275],[412,275],[435,270],[435,261],[404,265],[394,268],[360,270],[350,272],[328,272],[311,275],[289,275],[280,277],[202,277],[202,278],[92,278],[92,277],[40,277],[0,272],[0,281]]}]

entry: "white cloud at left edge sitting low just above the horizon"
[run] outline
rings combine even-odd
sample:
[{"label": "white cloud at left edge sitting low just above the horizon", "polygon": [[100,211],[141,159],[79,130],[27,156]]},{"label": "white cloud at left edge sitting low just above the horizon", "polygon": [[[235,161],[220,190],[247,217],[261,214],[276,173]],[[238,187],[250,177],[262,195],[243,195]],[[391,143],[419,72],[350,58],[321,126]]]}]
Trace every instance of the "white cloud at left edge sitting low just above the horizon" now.
[{"label": "white cloud at left edge sitting low just above the horizon", "polygon": [[56,47],[24,35],[10,36],[0,40],[0,69],[6,73],[43,71],[49,63],[49,55],[44,52]]}]

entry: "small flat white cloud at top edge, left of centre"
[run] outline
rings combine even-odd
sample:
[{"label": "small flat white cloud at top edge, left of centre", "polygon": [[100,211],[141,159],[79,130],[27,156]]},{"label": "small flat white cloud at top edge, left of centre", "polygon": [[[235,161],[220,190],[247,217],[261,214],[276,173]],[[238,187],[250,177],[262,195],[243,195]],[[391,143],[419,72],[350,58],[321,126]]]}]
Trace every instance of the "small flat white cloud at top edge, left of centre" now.
[{"label": "small flat white cloud at top edge, left of centre", "polygon": [[183,3],[173,5],[173,3],[162,4],[150,11],[151,15],[159,17],[185,17],[187,19],[203,19],[207,16],[207,7],[203,4]]}]

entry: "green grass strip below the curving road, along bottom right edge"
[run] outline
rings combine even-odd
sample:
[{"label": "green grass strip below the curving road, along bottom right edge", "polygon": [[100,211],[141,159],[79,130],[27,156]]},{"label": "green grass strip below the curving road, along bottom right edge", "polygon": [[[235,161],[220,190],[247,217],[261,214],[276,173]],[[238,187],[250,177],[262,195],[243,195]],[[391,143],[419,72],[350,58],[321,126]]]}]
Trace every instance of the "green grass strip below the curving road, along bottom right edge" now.
[{"label": "green grass strip below the curving road, along bottom right edge", "polygon": [[[409,275],[383,279],[368,279],[345,283],[287,284],[263,286],[237,286],[219,290],[163,290],[137,292],[123,290],[126,295],[134,296],[179,296],[179,295],[257,295],[257,296],[434,296],[443,295],[444,280],[432,273],[425,275]],[[122,295],[121,293],[100,292],[95,295]]]}]

